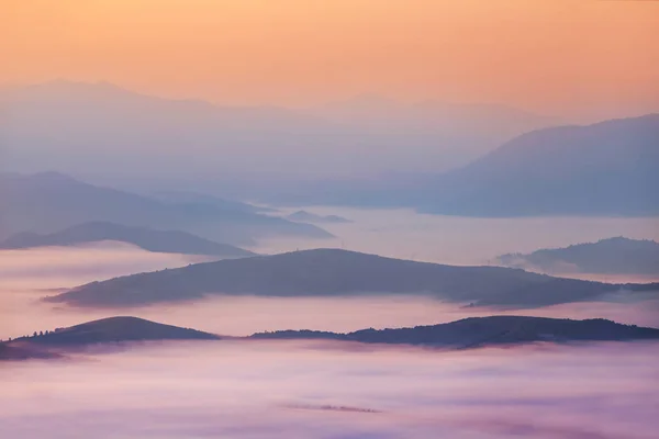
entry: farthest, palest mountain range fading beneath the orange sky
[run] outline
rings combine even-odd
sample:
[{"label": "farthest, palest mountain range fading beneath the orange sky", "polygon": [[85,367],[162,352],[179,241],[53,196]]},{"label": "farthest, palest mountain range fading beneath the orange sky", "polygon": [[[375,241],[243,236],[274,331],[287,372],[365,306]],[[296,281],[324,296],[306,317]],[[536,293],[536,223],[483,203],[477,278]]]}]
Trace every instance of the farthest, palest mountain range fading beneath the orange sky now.
[{"label": "farthest, palest mountain range fading beneath the orange sky", "polygon": [[395,109],[383,122],[379,105],[362,105],[362,117],[354,106],[349,101],[295,111],[221,106],[107,82],[15,87],[0,92],[2,167],[143,183],[223,178],[252,187],[267,180],[259,188],[268,189],[272,181],[310,173],[444,170],[554,124],[501,105],[392,101]]}]

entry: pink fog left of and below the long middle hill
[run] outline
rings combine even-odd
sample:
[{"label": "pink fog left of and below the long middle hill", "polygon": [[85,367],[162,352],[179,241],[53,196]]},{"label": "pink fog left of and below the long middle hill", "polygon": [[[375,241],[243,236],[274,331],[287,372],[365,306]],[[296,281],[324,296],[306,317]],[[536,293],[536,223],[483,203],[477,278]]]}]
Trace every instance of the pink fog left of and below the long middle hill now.
[{"label": "pink fog left of and below the long middle hill", "polygon": [[[353,227],[366,227],[350,224]],[[405,226],[401,225],[402,228]],[[401,235],[388,234],[392,239]],[[316,243],[317,244],[317,243]],[[433,251],[432,240],[420,251]],[[396,248],[392,245],[392,248]],[[353,331],[367,327],[434,325],[493,314],[567,318],[610,318],[640,326],[659,324],[659,301],[629,302],[613,294],[607,302],[583,302],[529,309],[466,308],[422,295],[359,297],[257,297],[210,295],[134,308],[76,308],[41,301],[62,289],[94,280],[176,268],[208,258],[154,254],[114,243],[0,251],[0,338],[115,315],[132,315],[214,334],[247,336],[278,329]]]}]

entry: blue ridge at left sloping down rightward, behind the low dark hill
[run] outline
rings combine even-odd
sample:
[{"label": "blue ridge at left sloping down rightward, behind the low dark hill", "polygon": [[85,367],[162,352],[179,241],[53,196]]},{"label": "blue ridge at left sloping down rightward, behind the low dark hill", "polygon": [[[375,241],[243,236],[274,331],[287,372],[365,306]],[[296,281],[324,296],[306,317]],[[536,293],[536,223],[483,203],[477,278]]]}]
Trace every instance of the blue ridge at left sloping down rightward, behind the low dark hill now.
[{"label": "blue ridge at left sloping down rightward, behind the low dark hill", "polygon": [[88,222],[180,229],[232,245],[265,236],[331,237],[311,224],[204,203],[171,203],[45,172],[0,173],[0,239],[31,230],[51,234]]}]

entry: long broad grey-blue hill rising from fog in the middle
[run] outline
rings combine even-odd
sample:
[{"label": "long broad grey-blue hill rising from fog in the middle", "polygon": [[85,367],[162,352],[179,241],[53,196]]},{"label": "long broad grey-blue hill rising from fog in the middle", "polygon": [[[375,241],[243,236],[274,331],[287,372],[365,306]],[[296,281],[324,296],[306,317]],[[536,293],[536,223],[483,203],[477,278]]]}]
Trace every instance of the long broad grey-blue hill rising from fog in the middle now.
[{"label": "long broad grey-blue hill rising from fog in the middle", "polygon": [[[425,293],[480,305],[538,306],[594,300],[623,285],[551,278],[501,267],[451,267],[338,249],[197,263],[92,282],[49,302],[134,306],[208,294],[325,296]],[[658,290],[659,285],[624,285]]]}]

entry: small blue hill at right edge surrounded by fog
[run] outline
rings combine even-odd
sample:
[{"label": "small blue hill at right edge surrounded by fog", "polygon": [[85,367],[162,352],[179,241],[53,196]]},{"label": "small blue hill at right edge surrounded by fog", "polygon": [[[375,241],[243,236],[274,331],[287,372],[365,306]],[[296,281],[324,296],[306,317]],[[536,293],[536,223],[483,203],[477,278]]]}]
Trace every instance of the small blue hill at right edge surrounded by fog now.
[{"label": "small blue hill at right edge surrounded by fog", "polygon": [[566,248],[541,249],[529,255],[507,254],[496,259],[505,267],[546,272],[659,275],[659,244],[624,237]]}]

